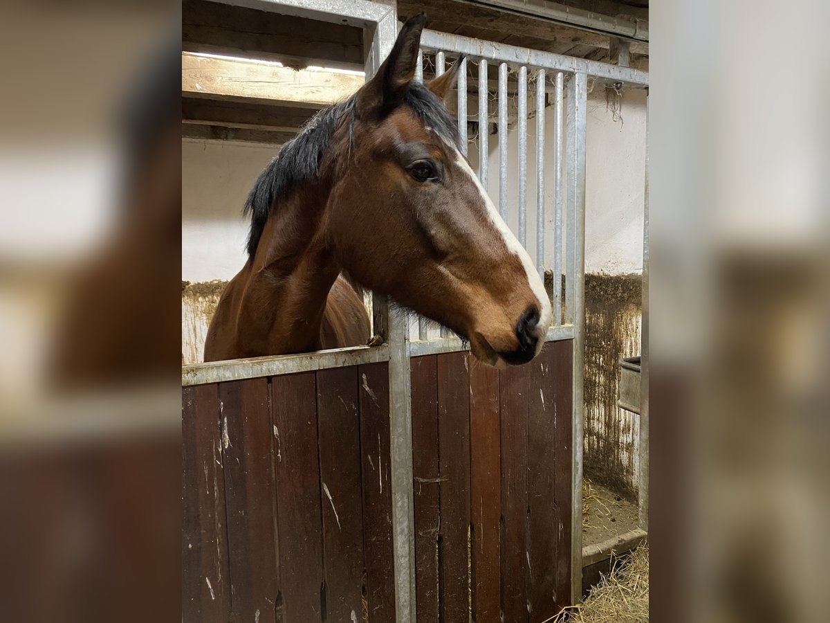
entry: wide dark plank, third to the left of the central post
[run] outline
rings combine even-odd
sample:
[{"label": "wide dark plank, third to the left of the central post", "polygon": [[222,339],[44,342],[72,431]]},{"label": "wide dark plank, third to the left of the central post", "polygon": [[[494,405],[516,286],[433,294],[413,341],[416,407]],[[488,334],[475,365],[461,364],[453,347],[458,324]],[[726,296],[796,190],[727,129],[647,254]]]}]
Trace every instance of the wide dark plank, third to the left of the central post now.
[{"label": "wide dark plank, third to the left of the central post", "polygon": [[285,623],[322,620],[323,534],[316,398],[314,372],[271,379],[281,564],[279,601]]}]

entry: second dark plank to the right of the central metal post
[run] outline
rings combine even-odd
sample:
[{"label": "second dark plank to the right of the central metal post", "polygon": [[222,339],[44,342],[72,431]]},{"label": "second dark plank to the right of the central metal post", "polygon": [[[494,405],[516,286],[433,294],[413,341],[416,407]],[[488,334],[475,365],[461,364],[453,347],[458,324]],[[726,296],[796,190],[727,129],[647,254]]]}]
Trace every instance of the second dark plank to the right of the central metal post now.
[{"label": "second dark plank to the right of the central metal post", "polygon": [[437,355],[438,457],[441,473],[439,600],[442,621],[469,613],[470,373],[466,352]]}]

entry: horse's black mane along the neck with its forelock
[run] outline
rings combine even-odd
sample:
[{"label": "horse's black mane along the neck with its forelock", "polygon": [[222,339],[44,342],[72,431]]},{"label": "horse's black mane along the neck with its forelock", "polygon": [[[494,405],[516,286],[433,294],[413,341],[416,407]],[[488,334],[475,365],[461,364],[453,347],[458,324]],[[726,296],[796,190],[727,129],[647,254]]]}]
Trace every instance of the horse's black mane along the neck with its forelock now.
[{"label": "horse's black mane along the neck with its forelock", "polygon": [[[342,115],[348,114],[349,133],[354,140],[355,96],[348,100],[320,110],[297,133],[282,146],[256,179],[245,202],[243,213],[251,214],[251,230],[248,234],[247,252],[251,260],[256,254],[262,229],[271,213],[271,208],[285,201],[304,184],[317,179],[320,161],[329,149],[331,137]],[[455,120],[447,111],[441,98],[423,86],[413,82],[403,96],[403,105],[408,106],[423,124],[442,135],[460,148],[460,138]]]}]

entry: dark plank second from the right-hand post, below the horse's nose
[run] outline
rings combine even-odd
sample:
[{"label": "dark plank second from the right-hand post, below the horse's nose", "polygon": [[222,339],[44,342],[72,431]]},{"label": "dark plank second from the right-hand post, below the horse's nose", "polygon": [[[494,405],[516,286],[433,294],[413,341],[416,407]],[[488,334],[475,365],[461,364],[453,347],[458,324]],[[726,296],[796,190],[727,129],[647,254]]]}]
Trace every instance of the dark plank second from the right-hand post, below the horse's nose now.
[{"label": "dark plank second from the right-hand post, below the horse's nose", "polygon": [[554,346],[547,345],[530,368],[527,415],[528,483],[528,603],[530,622],[547,621],[556,614],[555,574],[560,553],[556,549],[559,519],[554,508],[557,477],[555,429],[557,404],[554,376]]}]

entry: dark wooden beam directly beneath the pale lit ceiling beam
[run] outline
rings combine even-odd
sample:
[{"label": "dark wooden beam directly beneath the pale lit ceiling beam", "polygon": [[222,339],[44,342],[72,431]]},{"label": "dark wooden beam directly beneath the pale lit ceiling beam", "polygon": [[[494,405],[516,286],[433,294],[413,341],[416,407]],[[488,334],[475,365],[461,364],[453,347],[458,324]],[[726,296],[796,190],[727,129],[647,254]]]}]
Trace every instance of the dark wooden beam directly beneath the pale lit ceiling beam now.
[{"label": "dark wooden beam directly beneath the pale lit ceiling beam", "polygon": [[201,97],[182,98],[184,123],[221,125],[229,128],[250,128],[295,132],[316,112],[313,108],[295,108],[243,101],[207,100]]}]

